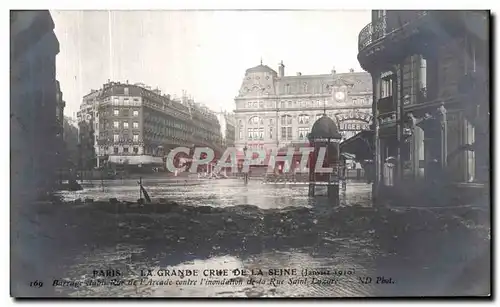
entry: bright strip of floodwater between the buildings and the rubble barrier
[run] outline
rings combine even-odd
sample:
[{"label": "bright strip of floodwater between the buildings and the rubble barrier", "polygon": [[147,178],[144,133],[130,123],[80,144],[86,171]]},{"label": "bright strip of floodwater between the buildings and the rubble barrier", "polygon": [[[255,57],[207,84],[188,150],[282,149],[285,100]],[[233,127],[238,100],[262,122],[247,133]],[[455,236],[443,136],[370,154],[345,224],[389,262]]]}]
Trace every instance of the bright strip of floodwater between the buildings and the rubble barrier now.
[{"label": "bright strip of floodwater between the buildings and the rubble barrier", "polygon": [[[307,186],[269,185],[261,180],[251,180],[244,185],[241,180],[172,180],[145,179],[144,186],[150,196],[166,198],[180,204],[228,207],[237,205],[257,206],[261,209],[281,209],[289,206],[331,205],[326,197],[309,198]],[[104,186],[104,188],[103,188]],[[93,198],[94,200],[136,201],[139,188],[136,180],[93,181],[84,185],[83,191],[59,193],[65,200]],[[371,205],[371,185],[350,182],[347,191],[340,192],[340,205]]]}]

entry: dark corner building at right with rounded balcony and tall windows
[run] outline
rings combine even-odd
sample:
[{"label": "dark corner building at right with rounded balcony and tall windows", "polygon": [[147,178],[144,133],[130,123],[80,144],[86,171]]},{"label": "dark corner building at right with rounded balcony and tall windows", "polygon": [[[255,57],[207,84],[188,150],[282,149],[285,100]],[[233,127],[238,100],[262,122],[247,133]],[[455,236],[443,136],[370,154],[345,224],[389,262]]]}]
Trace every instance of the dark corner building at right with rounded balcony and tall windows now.
[{"label": "dark corner building at right with rounded balcony and tall windows", "polygon": [[[359,34],[358,60],[373,79],[380,186],[488,180],[488,18],[482,11],[373,11]],[[391,157],[395,172],[384,172]]]}]

